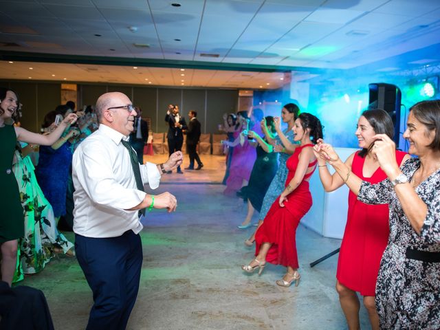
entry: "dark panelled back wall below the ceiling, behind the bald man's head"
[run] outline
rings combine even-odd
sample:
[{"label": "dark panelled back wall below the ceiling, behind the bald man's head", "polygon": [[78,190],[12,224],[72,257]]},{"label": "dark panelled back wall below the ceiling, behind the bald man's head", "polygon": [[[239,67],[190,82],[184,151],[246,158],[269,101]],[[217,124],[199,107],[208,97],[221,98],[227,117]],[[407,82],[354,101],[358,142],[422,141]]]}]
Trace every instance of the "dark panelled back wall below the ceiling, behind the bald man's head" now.
[{"label": "dark panelled back wall below the ceiling, behind the bald man's head", "polygon": [[[144,87],[141,85],[103,85],[78,83],[78,104],[95,104],[96,99],[107,91],[121,91],[141,107],[142,117],[151,118],[151,129],[167,131],[164,121],[168,104],[178,104],[181,114],[188,121],[188,111],[197,111],[202,133],[218,133],[218,124],[223,123],[223,113],[237,111],[239,91],[236,89],[181,89],[166,87]],[[21,124],[30,131],[39,131],[45,114],[61,104],[61,83],[19,80],[0,80],[0,86],[17,91],[23,104]]]}]

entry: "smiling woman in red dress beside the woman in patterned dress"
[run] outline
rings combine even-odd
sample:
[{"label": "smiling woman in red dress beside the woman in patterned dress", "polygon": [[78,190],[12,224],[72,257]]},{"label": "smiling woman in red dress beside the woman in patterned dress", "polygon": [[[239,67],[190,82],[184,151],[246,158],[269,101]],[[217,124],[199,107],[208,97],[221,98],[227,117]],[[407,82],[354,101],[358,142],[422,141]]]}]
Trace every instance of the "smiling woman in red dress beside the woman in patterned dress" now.
[{"label": "smiling woman in red dress beside the woman in patterned dress", "polygon": [[[366,110],[358,120],[356,129],[358,144],[361,151],[350,155],[345,164],[353,174],[371,184],[386,179],[386,174],[373,157],[375,134],[386,134],[391,139],[394,135],[393,121],[384,110]],[[399,164],[406,162],[410,156],[396,151]],[[322,186],[325,191],[333,191],[344,184],[346,178],[337,173],[331,175],[325,160],[318,157],[318,168]],[[344,238],[339,252],[338,270],[336,272],[336,290],[344,311],[349,329],[360,329],[359,292],[364,296],[364,306],[369,313],[371,329],[379,329],[379,317],[375,307],[375,286],[380,260],[388,242],[388,204],[367,205],[358,201],[353,192],[349,192],[349,210]]]}]

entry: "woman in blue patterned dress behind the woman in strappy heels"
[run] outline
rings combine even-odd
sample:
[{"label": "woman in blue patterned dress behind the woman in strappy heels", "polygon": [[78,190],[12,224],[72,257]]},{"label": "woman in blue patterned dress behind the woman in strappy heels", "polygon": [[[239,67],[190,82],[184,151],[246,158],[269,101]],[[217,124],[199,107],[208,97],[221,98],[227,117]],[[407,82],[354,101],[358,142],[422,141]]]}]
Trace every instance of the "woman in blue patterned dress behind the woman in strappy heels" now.
[{"label": "woman in blue patterned dress behind the woman in strappy heels", "polygon": [[[297,146],[297,144],[294,144],[294,132],[292,131],[292,129],[294,128],[295,120],[296,118],[298,118],[299,113],[300,109],[296,104],[285,104],[283,109],[281,109],[281,119],[287,124],[287,129],[281,131],[280,118],[274,118],[277,135],[274,139],[272,139],[270,137],[270,134],[266,134],[266,136],[268,136],[267,142],[274,146],[274,152],[279,153],[279,165],[278,170],[275,173],[274,179],[272,179],[272,182],[267,189],[266,195],[263,199],[263,204],[261,206],[261,211],[259,214],[259,224],[256,229],[261,226],[261,224],[263,223],[263,219],[265,218],[267,212],[274,203],[276,197],[281,195],[281,192],[283,192],[285,188],[284,184],[287,179],[287,174],[289,173],[289,170],[287,170],[286,167],[286,162],[290,155],[294,153]],[[252,244],[254,244],[255,232],[252,234],[252,236],[250,236],[249,239],[245,239],[245,245],[252,246]]]}]

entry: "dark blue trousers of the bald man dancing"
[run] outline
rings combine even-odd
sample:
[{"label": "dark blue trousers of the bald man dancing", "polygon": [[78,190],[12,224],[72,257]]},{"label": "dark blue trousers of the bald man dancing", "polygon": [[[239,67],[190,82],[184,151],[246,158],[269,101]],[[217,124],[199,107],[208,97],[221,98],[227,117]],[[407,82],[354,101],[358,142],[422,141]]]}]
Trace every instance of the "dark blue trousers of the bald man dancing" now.
[{"label": "dark blue trousers of the bald man dancing", "polygon": [[94,294],[87,329],[125,329],[139,289],[140,236],[132,230],[107,239],[75,234],[75,251]]}]

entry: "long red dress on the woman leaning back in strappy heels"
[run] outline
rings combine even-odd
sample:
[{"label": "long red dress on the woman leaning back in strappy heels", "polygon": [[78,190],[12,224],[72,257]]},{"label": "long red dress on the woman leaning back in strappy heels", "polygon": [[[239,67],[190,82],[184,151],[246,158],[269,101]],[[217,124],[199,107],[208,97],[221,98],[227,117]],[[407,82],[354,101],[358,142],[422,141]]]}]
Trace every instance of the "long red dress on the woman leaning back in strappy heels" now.
[{"label": "long red dress on the woman leaning back in strappy heels", "polygon": [[[294,154],[287,159],[286,166],[289,170],[289,174],[287,175],[285,186],[287,186],[294,177],[300,152],[305,147],[313,147],[313,144],[298,146]],[[309,168],[315,166],[316,162],[315,159],[314,162],[309,163]],[[286,267],[290,266],[294,269],[298,268],[296,228],[298,228],[301,218],[303,218],[311,208],[312,201],[309,182],[305,180],[311,177],[314,170],[312,170],[311,173],[307,173],[298,188],[287,195],[287,201],[284,202],[285,206],[283,208],[278,203],[280,197],[274,201],[269,212],[267,212],[263,225],[256,231],[255,255],[259,254],[262,243],[272,243],[269,252],[267,252],[267,262]]]}]

